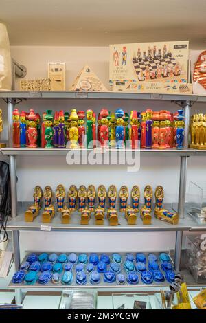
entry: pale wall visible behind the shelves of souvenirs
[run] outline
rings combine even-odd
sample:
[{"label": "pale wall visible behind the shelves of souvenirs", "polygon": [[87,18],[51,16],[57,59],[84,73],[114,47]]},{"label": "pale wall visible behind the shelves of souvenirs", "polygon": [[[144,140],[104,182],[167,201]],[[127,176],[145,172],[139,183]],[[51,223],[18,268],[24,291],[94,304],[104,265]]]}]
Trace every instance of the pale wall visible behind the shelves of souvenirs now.
[{"label": "pale wall visible behind the shelves of souvenirs", "polygon": [[[26,78],[47,77],[47,63],[49,61],[66,62],[66,85],[88,64],[95,73],[108,85],[108,48],[107,47],[12,47],[12,57],[27,67]],[[18,83],[18,82],[17,82]],[[18,89],[18,84],[16,84]],[[5,104],[3,104],[5,105]],[[153,110],[168,109],[176,111],[178,107],[171,102],[133,101],[133,100],[27,100],[18,105],[19,109],[30,107],[38,112],[45,109],[54,111],[63,109],[69,111],[71,107],[77,109],[94,109],[100,111],[107,107],[115,111],[123,107],[126,111],[137,109],[144,111],[147,107]],[[204,111],[204,104],[195,104],[192,113]],[[6,108],[3,110],[6,116]],[[5,122],[6,126],[6,122]],[[3,137],[6,135],[6,129]],[[126,166],[68,166],[65,157],[18,157],[17,175],[19,201],[31,201],[32,192],[36,184],[44,187],[46,184],[55,190],[58,183],[63,183],[68,189],[71,183],[77,186],[84,183],[100,183],[107,187],[115,183],[117,188],[122,184],[131,188],[138,184],[141,192],[150,183],[155,190],[159,184],[165,190],[165,202],[177,201],[179,190],[179,157],[146,157],[141,156],[141,169],[137,173],[126,171]],[[194,179],[206,179],[204,157],[190,157],[188,161],[187,182]],[[58,216],[58,215],[56,215]],[[141,221],[138,219],[138,221]],[[65,251],[139,251],[174,249],[175,232],[22,232],[22,250],[45,249]]]}]

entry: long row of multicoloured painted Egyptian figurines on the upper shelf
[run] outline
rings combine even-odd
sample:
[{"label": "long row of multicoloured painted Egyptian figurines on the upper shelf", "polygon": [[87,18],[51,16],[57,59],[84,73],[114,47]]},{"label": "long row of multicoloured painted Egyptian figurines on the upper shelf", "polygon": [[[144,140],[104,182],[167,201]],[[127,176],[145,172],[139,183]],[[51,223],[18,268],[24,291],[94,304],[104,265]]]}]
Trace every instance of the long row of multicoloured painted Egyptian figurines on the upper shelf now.
[{"label": "long row of multicoloured painted Egyptian figurines on the upper shelf", "polygon": [[[111,148],[166,149],[183,148],[184,116],[183,110],[174,115],[166,110],[128,113],[117,109],[109,113],[102,109],[98,115],[98,127],[95,125],[95,113],[87,110],[87,124],[84,125],[84,111],[60,111],[52,115],[52,110],[43,113],[43,122],[38,113],[13,112],[13,146],[20,148],[94,148],[95,146]],[[175,120],[175,121],[174,121]],[[87,135],[87,137],[85,136]]]}]

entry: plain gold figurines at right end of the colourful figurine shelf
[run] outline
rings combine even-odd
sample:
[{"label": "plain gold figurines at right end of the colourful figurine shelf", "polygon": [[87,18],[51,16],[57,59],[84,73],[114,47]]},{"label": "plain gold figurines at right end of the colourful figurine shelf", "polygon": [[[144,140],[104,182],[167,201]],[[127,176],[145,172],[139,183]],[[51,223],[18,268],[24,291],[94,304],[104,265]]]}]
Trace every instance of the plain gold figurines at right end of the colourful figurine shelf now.
[{"label": "plain gold figurines at right end of the colourful figurine shelf", "polygon": [[206,114],[196,113],[190,120],[190,148],[206,149]]}]

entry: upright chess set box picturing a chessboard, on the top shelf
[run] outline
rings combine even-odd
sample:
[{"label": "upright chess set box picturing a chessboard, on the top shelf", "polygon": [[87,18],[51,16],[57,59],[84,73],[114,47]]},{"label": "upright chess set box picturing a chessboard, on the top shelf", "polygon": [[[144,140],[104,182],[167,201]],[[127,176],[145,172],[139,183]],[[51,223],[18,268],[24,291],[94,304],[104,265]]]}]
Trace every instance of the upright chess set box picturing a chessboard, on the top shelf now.
[{"label": "upright chess set box picturing a chessboard, on the top shelf", "polygon": [[188,41],[110,45],[110,83],[187,82],[188,47]]}]

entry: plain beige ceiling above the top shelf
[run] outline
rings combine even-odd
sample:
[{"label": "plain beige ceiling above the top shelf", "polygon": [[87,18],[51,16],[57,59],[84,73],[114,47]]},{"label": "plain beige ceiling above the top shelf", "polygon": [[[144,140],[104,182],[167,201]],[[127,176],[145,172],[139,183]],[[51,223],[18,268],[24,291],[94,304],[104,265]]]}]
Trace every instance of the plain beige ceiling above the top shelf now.
[{"label": "plain beige ceiling above the top shelf", "polygon": [[11,45],[190,41],[206,47],[205,0],[0,0]]}]

